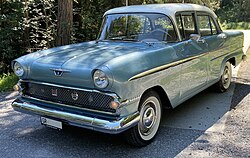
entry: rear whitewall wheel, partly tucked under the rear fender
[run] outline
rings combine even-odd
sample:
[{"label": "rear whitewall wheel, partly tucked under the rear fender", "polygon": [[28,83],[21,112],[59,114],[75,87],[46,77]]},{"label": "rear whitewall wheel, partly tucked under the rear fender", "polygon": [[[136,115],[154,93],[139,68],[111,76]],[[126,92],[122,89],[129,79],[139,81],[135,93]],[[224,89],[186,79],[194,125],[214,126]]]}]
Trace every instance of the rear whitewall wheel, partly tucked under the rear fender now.
[{"label": "rear whitewall wheel, partly tucked under the rear fender", "polygon": [[215,89],[218,92],[225,92],[231,84],[232,79],[232,67],[230,62],[226,62],[223,73],[220,80],[215,84]]}]

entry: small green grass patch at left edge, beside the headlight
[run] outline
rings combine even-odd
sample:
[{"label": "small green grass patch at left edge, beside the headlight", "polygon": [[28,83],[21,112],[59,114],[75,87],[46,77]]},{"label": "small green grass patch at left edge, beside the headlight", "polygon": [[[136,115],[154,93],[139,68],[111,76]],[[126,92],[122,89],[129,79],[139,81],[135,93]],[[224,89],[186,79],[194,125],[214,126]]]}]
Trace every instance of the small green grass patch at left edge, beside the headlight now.
[{"label": "small green grass patch at left edge, beside the headlight", "polygon": [[18,82],[18,77],[14,73],[0,76],[0,92],[13,90],[13,86]]}]

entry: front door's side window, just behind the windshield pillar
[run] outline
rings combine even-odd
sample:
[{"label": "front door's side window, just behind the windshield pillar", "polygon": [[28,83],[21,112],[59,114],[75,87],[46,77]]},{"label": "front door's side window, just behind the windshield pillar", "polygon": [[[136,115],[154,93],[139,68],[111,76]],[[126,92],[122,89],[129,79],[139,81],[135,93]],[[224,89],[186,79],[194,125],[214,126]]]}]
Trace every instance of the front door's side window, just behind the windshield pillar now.
[{"label": "front door's side window, just behind the windshield pillar", "polygon": [[183,40],[189,39],[191,34],[197,34],[194,15],[181,14],[176,16],[176,21]]}]

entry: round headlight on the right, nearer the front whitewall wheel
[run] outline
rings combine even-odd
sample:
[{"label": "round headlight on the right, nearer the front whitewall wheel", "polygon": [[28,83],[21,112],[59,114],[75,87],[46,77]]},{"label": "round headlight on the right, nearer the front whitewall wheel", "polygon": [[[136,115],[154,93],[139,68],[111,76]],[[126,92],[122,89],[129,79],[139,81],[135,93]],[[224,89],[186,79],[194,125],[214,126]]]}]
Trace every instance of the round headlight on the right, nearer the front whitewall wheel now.
[{"label": "round headlight on the right, nearer the front whitewall wheel", "polygon": [[95,86],[98,88],[106,88],[109,84],[108,77],[101,70],[96,70],[93,75]]}]

